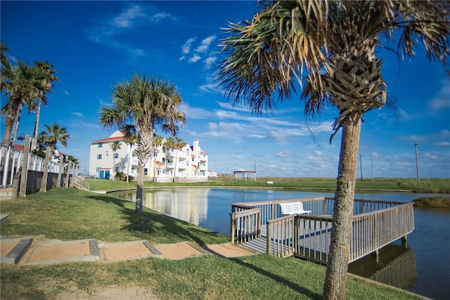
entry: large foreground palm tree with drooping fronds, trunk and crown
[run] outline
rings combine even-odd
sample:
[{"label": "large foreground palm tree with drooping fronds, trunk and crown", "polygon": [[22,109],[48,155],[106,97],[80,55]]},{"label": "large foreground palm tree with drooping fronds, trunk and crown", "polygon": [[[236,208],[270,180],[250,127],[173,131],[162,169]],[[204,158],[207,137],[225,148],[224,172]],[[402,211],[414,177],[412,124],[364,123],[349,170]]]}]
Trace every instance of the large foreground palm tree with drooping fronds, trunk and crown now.
[{"label": "large foreground palm tree with drooping fronds, trunk and crown", "polygon": [[342,138],[323,297],[344,299],[361,118],[386,102],[375,49],[389,47],[397,37],[398,58],[403,59],[414,56],[420,41],[427,58],[446,67],[450,2],[298,0],[259,5],[251,22],[230,23],[223,41],[228,58],[219,81],[226,96],[258,113],[290,98],[297,84],[305,115],[314,116],[328,103],[338,108],[330,143],[341,128]]}]

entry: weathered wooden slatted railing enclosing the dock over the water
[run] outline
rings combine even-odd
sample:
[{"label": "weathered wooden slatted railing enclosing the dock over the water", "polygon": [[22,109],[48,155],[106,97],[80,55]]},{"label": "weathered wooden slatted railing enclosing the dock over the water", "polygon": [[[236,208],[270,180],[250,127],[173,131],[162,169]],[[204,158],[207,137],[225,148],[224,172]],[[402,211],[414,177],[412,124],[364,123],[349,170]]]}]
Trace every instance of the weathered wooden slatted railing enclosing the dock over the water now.
[{"label": "weathered wooden slatted railing enclosing the dock over the water", "polygon": [[[311,214],[281,216],[279,203],[302,201]],[[315,197],[267,202],[232,204],[231,242],[243,244],[266,237],[266,253],[274,256],[297,256],[319,263],[328,262],[333,227],[334,198]],[[257,210],[256,210],[257,209]],[[413,203],[380,200],[354,200],[352,240],[349,262],[356,261],[390,242],[406,237],[414,229]],[[259,214],[259,215],[258,215]],[[251,234],[250,222],[261,220],[262,230]],[[243,218],[243,219],[241,219]],[[249,237],[250,236],[250,237]]]}]

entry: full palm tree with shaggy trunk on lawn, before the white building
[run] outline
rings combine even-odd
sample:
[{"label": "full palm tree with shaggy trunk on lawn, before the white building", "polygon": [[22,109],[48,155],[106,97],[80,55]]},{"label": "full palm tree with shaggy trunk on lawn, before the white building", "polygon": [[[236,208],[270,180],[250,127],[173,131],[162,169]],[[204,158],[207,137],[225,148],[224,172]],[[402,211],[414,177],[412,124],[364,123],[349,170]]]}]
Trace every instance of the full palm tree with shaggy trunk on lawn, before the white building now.
[{"label": "full palm tree with shaggy trunk on lawn, before the white building", "polygon": [[131,81],[113,87],[113,105],[100,108],[99,122],[104,127],[122,128],[131,121],[138,135],[136,155],[139,159],[136,186],[136,212],[142,213],[144,167],[152,152],[156,126],[175,135],[179,124],[186,121],[180,111],[181,96],[174,84],[153,77],[134,74]]}]

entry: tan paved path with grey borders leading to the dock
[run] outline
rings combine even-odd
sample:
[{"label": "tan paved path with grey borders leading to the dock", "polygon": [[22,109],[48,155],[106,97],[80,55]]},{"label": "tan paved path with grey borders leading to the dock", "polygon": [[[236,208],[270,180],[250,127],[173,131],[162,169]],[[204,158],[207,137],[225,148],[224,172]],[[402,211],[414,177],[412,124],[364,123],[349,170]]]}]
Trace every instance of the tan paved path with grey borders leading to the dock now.
[{"label": "tan paved path with grey borders leading to the dock", "polygon": [[151,244],[146,240],[101,243],[87,240],[46,240],[44,237],[0,239],[0,262],[22,265],[60,263],[63,261],[128,261],[158,257],[161,259],[186,259],[212,255],[230,258],[255,254],[234,244],[212,244],[203,247],[193,242]]}]

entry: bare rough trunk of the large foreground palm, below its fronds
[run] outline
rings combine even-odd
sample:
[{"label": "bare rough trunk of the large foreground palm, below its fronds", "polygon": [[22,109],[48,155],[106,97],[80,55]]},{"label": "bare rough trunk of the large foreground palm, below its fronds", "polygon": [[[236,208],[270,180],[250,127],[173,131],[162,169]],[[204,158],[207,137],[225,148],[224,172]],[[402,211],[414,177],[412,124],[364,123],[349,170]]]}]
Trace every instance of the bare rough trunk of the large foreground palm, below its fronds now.
[{"label": "bare rough trunk of the large foreground palm, below its fronds", "polygon": [[354,113],[342,126],[330,260],[326,268],[323,299],[345,299],[360,135],[361,113]]}]

